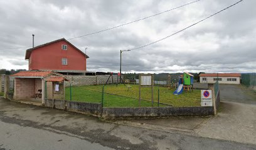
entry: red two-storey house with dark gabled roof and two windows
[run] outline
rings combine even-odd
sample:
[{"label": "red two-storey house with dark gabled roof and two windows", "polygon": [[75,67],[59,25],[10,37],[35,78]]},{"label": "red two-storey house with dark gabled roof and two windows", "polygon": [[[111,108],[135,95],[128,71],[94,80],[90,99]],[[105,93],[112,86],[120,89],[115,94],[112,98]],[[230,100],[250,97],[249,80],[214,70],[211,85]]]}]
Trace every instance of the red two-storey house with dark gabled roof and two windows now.
[{"label": "red two-storey house with dark gabled roof and two windows", "polygon": [[62,38],[26,50],[29,70],[82,72],[87,70],[87,58],[80,49]]}]

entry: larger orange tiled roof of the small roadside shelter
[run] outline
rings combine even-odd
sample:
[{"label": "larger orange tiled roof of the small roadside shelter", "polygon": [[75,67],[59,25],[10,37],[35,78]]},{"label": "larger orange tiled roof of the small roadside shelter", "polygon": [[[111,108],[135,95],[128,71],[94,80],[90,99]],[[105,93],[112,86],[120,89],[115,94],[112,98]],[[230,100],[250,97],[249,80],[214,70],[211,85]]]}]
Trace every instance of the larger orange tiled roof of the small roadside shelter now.
[{"label": "larger orange tiled roof of the small roadside shelter", "polygon": [[51,74],[51,71],[20,71],[19,73],[12,74],[13,77],[45,77]]}]

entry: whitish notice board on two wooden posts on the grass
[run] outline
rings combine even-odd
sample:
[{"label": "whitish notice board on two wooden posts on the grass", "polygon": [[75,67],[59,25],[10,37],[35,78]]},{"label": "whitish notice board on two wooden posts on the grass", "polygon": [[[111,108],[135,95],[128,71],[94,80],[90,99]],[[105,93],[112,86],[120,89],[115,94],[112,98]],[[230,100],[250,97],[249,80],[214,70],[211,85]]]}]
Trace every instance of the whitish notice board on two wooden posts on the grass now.
[{"label": "whitish notice board on two wooden posts on the grass", "polygon": [[139,74],[139,106],[141,106],[141,88],[151,88],[151,103],[154,104],[154,74]]}]

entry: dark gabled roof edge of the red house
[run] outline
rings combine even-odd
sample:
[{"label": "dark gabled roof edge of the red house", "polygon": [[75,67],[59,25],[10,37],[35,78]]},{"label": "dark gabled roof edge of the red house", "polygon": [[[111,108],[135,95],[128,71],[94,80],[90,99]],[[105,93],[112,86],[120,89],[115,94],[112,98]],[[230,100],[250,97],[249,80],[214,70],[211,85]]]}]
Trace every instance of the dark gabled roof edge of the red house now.
[{"label": "dark gabled roof edge of the red house", "polygon": [[[27,49],[27,50],[26,50],[25,59],[26,59],[26,60],[29,59],[29,57],[30,57],[30,55],[31,55],[31,52],[32,52],[34,49],[38,49],[38,48],[40,48],[40,47],[47,46],[47,45],[49,45],[49,44],[53,44],[53,43],[58,42],[58,41],[66,41],[66,42],[68,42],[67,39],[61,38],[61,39],[57,39],[57,40],[55,40],[55,41],[46,42],[45,44],[41,44],[41,45],[39,45],[39,46],[36,46],[36,47],[30,48],[30,49]],[[68,44],[70,44],[70,45],[73,46],[75,49],[77,49],[77,51],[79,51],[80,53],[82,53],[86,58],[89,58],[89,56],[87,56],[87,54],[83,53],[80,49],[78,49],[77,47],[75,47],[71,42],[68,42]]]}]

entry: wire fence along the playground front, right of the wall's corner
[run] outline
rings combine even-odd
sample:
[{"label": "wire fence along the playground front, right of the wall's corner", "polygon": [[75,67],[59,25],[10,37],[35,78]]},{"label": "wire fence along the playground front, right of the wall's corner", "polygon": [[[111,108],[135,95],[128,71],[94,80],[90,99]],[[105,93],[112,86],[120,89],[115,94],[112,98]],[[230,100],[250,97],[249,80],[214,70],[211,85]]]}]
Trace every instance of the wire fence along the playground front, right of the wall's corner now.
[{"label": "wire fence along the playground front, right of the wall's corner", "polygon": [[176,89],[163,86],[141,88],[139,103],[138,84],[118,84],[104,86],[104,107],[180,107],[201,106],[201,91],[196,89],[184,90],[183,93],[173,94]]}]

